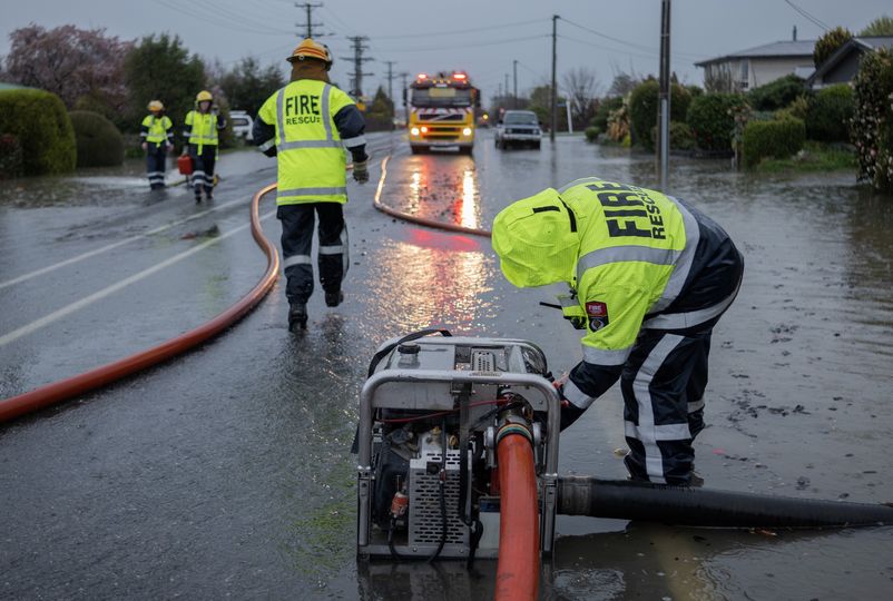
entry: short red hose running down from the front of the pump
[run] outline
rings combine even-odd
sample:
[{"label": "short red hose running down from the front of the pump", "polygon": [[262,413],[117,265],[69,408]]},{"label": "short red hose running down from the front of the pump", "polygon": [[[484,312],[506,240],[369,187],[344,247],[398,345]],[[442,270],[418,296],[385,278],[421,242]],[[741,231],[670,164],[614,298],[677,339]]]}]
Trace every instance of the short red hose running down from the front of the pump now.
[{"label": "short red hose running down from the front of the pump", "polygon": [[533,449],[520,433],[497,445],[500,522],[497,601],[534,600],[540,583],[540,528]]}]

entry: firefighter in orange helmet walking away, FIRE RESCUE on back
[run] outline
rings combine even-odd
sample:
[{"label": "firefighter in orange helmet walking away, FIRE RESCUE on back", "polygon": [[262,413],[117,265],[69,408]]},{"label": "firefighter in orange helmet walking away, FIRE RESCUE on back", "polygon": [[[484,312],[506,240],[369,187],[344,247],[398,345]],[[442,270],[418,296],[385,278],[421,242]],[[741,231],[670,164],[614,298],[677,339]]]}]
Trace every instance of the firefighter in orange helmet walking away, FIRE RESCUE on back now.
[{"label": "firefighter in orange helmet walking away, FIRE RESCUE on back", "polygon": [[369,180],[365,121],[356,105],[328,80],[328,48],[307,38],[291,57],[291,82],[261,107],[254,121],[254,142],[278,160],[276,216],[282,221],[283,268],[287,279],[288,328],[306,328],[307,300],[313,294],[311,258],[314,214],[320,219],[320,284],[325,304],[344,299],[341,285],[347,272],[346,156],[353,178]]}]

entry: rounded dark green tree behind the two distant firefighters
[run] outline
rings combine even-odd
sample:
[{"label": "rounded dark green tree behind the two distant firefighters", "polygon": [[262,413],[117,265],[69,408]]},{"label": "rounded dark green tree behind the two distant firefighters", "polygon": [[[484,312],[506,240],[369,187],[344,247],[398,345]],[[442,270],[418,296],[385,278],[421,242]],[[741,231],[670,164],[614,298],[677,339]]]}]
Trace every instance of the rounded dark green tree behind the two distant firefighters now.
[{"label": "rounded dark green tree behind the two distant firefighters", "polygon": [[205,65],[189,56],[178,36],[161,33],[143,38],[127,55],[125,80],[130,90],[127,129],[139,128],[149,100],[161,100],[179,131],[186,112],[195,106],[195,95],[205,88]]}]

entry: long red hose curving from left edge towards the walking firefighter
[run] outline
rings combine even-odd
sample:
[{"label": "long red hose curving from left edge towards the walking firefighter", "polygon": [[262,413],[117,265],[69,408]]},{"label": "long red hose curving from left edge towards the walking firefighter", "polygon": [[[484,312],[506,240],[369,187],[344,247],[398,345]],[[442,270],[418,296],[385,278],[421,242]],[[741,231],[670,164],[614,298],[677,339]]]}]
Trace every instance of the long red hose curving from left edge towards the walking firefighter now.
[{"label": "long red hose curving from left edge towards the walking firefighter", "polygon": [[100,386],[106,386],[122,377],[135,374],[140,370],[180,355],[216,336],[244,317],[261,302],[271,288],[273,288],[273,284],[276,283],[279,273],[279,256],[276,253],[276,247],[264,237],[258,215],[261,198],[275,189],[276,185],[272,184],[257,191],[254,198],[252,198],[252,235],[267,256],[267,269],[255,287],[252,288],[247,295],[242,297],[238,303],[220,313],[212,321],[195,329],[180,334],[175,338],[170,338],[158,346],[153,346],[151,348],[140,351],[135,355],[96,367],[89,372],[60,380],[31,392],[0,401],[0,423],[60,403],[72,396],[99,388]]}]

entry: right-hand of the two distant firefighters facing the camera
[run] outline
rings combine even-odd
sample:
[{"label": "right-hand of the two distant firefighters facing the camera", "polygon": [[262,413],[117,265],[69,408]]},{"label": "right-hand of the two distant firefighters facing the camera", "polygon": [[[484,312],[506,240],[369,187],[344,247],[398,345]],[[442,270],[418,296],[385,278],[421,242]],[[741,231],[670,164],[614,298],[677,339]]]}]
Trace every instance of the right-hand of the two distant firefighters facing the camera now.
[{"label": "right-hand of the two distant firefighters facing the camera", "polygon": [[202,201],[202,193],[214,199],[214,164],[217,161],[217,132],[226,128],[226,119],[214,106],[214,96],[202,90],[195,97],[195,110],[186,114],[183,137],[187,145],[183,155],[193,159],[193,189],[195,201]]}]

